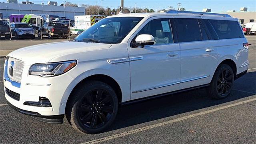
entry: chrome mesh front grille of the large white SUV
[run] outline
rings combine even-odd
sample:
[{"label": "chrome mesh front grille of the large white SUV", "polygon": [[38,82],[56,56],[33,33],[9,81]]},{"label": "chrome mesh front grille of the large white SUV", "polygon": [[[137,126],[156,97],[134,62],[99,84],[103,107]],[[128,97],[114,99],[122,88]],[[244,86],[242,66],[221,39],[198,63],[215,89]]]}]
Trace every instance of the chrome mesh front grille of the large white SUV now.
[{"label": "chrome mesh front grille of the large white SUV", "polygon": [[23,68],[24,68],[24,62],[16,58],[12,58],[12,59],[14,60],[14,65],[13,65],[13,75],[10,76],[10,79],[20,83]]}]

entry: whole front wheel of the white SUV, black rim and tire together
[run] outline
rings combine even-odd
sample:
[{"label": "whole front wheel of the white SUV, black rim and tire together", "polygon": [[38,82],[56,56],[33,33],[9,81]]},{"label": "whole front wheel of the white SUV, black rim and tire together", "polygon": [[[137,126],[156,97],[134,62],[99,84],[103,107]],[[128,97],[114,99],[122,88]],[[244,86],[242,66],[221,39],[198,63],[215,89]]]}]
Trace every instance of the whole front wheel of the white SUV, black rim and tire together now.
[{"label": "whole front wheel of the white SUV, black rim and tire together", "polygon": [[70,95],[66,117],[74,129],[96,134],[113,123],[117,110],[118,99],[114,90],[104,82],[88,81]]}]

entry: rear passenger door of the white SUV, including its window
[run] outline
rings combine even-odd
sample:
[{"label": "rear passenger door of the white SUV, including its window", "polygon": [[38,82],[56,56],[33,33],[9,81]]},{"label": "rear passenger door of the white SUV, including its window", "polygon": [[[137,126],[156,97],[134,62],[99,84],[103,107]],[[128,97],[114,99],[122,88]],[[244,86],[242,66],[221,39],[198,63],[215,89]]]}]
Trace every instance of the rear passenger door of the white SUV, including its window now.
[{"label": "rear passenger door of the white SUV, including its window", "polygon": [[180,80],[182,88],[209,84],[217,66],[217,49],[210,40],[200,17],[176,17],[181,49]]}]

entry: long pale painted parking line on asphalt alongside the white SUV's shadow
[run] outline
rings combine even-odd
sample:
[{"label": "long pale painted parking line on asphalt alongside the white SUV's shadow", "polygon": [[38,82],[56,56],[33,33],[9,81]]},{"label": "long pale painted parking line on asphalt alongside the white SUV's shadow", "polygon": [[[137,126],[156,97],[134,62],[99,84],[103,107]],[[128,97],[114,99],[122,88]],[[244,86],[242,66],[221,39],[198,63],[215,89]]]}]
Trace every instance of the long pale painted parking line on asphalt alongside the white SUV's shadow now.
[{"label": "long pale painted parking line on asphalt alongside the white SUV's shadow", "polygon": [[85,142],[85,143],[82,143],[82,144],[96,144],[96,143],[104,142],[104,141],[111,140],[111,139],[114,139],[114,138],[120,138],[122,136],[127,136],[127,135],[134,134],[134,133],[137,133],[137,132],[142,132],[142,131],[149,130],[149,129],[152,129],[152,128],[156,128],[156,127],[159,127],[159,126],[164,126],[166,124],[172,124],[174,122],[179,122],[179,121],[186,120],[186,119],[189,119],[189,118],[194,118],[196,116],[201,116],[201,115],[204,115],[204,114],[209,114],[211,112],[216,112],[218,110],[223,110],[223,109],[230,108],[230,107],[233,107],[233,106],[238,106],[238,105],[245,104],[245,103],[248,103],[248,102],[252,102],[252,101],[255,101],[255,100],[256,100],[256,98],[252,98],[250,100],[244,100],[242,102],[237,102],[237,103],[234,103],[234,104],[229,104],[229,105],[222,106],[222,107],[219,107],[219,108],[214,108],[212,110],[206,110],[204,112],[198,112],[196,114],[191,114],[189,116],[183,116],[181,118],[176,118],[174,120],[169,120],[169,121],[166,121],[166,122],[161,122],[161,123],[153,124],[153,125],[150,125],[150,126],[145,126],[145,127],[142,127],[142,128],[138,128],[138,129],[135,129],[135,130],[130,130],[128,132],[123,132],[123,133],[115,134],[115,135],[112,135],[112,136],[107,136],[105,138],[100,138],[100,139],[97,139],[97,140],[92,140],[92,141]]}]

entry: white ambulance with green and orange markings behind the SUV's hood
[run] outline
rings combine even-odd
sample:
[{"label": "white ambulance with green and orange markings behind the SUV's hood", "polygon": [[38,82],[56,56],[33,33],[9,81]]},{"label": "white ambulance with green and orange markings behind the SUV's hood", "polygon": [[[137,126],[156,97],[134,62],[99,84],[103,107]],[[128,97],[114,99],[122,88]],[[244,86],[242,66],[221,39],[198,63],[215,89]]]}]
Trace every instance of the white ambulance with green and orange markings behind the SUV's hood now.
[{"label": "white ambulance with green and orange markings behind the SUV's hood", "polygon": [[96,22],[106,17],[107,16],[95,16],[95,15],[75,16],[75,24],[70,28],[71,34],[79,35],[84,30],[90,28]]}]

